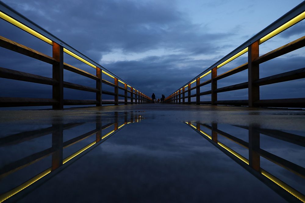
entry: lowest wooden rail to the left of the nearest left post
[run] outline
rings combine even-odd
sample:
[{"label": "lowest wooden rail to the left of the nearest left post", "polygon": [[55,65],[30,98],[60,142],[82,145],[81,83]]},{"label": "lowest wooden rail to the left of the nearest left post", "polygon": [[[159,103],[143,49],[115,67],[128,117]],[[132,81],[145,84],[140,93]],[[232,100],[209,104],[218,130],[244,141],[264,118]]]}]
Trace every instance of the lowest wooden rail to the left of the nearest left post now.
[{"label": "lowest wooden rail to the left of the nearest left post", "polygon": [[0,107],[52,106],[56,103],[58,103],[58,101],[54,99],[0,97]]}]

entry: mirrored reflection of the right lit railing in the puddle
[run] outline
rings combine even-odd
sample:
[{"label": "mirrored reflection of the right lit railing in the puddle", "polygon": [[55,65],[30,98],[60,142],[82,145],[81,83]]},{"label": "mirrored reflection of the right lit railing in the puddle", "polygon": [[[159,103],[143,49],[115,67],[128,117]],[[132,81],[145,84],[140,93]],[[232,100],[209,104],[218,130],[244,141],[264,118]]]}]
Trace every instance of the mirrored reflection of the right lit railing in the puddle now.
[{"label": "mirrored reflection of the right lit railing in the puddle", "polygon": [[[245,142],[242,139],[239,139],[233,135],[230,135],[224,131],[217,129],[216,123],[212,123],[211,126],[200,123],[196,123],[195,126],[191,122],[185,123],[191,126],[196,132],[198,132],[200,135],[210,141],[218,149],[220,149],[226,155],[231,157],[233,160],[235,160],[235,162],[239,163],[239,165],[248,170],[255,177],[257,177],[264,184],[269,186],[271,189],[273,189],[275,192],[277,192],[289,202],[305,202],[305,196],[302,193],[290,187],[288,184],[284,183],[282,180],[278,179],[277,177],[273,176],[272,174],[268,173],[260,167],[260,157],[264,157],[267,160],[277,164],[278,166],[282,166],[283,168],[297,174],[300,177],[305,177],[305,168],[261,149],[260,133],[300,146],[305,145],[305,137],[278,130],[262,129],[251,125],[249,127],[238,126],[240,128],[248,129],[249,131],[249,142]],[[204,132],[201,127],[211,130],[211,135]],[[239,153],[224,145],[222,142],[219,142],[217,139],[218,135],[221,135],[222,137],[227,138],[248,149],[249,159],[246,159]],[[289,137],[287,135],[289,135]]]}]

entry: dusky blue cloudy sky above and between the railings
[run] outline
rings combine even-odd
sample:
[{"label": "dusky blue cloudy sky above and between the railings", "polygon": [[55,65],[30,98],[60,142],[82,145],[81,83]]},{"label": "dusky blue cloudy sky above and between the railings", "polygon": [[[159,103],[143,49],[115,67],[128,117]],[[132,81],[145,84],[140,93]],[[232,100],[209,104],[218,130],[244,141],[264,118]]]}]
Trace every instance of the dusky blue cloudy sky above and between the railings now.
[{"label": "dusky blue cloudy sky above and between the railings", "polygon": [[[168,96],[264,29],[300,0],[253,1],[24,1],[4,3],[59,39],[151,96]],[[270,9],[272,8],[272,9]],[[0,21],[1,36],[52,55],[52,48],[28,33]],[[260,46],[260,54],[304,36],[304,21]],[[52,77],[40,61],[0,48],[1,67]],[[260,77],[303,68],[304,48],[262,64]],[[70,56],[64,61],[95,73]],[[247,61],[245,55],[218,69],[221,74]],[[210,76],[209,76],[210,77]],[[204,82],[203,78],[201,82]],[[95,87],[83,76],[65,72],[64,80]],[[247,81],[247,72],[218,81],[224,87]],[[0,80],[2,96],[50,98],[52,88],[28,82]],[[105,89],[106,87],[103,87]],[[201,91],[210,89],[210,85]],[[108,89],[106,89],[108,90]],[[261,99],[295,98],[305,94],[305,80],[261,88]],[[218,100],[247,99],[247,89],[219,93]],[[107,99],[107,97],[105,97]],[[94,93],[66,90],[65,99],[95,99]],[[210,96],[202,96],[202,101]]]}]

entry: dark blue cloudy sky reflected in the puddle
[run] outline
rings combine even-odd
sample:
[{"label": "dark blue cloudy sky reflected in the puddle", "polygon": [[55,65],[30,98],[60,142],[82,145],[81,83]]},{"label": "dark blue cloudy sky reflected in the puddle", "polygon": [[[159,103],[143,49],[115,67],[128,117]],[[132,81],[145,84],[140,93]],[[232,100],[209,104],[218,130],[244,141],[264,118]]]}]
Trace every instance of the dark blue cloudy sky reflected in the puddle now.
[{"label": "dark blue cloudy sky reflected in the puddle", "polygon": [[[211,125],[216,121],[221,131],[247,142],[247,130],[229,125],[240,124],[242,119],[244,124],[251,123],[249,113],[246,111],[236,111],[234,114],[231,112],[231,118],[235,118],[231,121],[226,121],[228,112],[221,111],[214,115],[210,114],[210,117],[204,117],[207,112],[195,111],[148,111],[134,112],[134,114],[141,115],[145,119],[124,126],[80,159],[74,159],[76,161],[70,166],[26,195],[20,202],[285,202],[260,180],[182,122],[192,121],[195,124],[196,121],[204,121]],[[268,126],[269,123],[282,119],[283,115],[275,114],[279,114],[279,111],[274,114],[251,115],[252,122],[257,123],[260,120],[262,125]],[[113,121],[112,112],[101,115],[103,115],[103,125]],[[271,117],[273,120],[270,119]],[[71,111],[59,120],[64,123],[86,122],[65,130],[64,141],[66,141],[95,128],[96,115]],[[118,120],[120,124],[124,121],[124,112],[119,112]],[[300,117],[293,117],[292,120],[296,124],[302,121]],[[42,119],[33,123],[44,122]],[[47,123],[50,122],[49,119]],[[29,123],[25,120],[18,123],[23,124],[22,129],[31,128],[29,126],[26,128]],[[285,126],[277,123],[275,128],[283,129]],[[111,129],[113,126],[102,134]],[[304,131],[300,129],[293,133],[303,135]],[[201,130],[210,133],[204,127],[201,127]],[[286,131],[292,132],[291,128],[286,128]],[[18,132],[18,129],[14,132]],[[303,147],[265,135],[260,137],[262,149],[304,166],[305,159],[301,156],[304,154]],[[95,135],[71,148],[64,149],[64,158],[92,142],[94,138]],[[248,158],[247,149],[220,135],[218,139]],[[4,160],[9,161],[9,158],[16,160],[18,155],[25,156],[47,147],[50,147],[50,135],[21,143],[15,148],[1,147],[1,154],[5,155],[1,160],[2,163]],[[5,154],[7,150],[11,153]],[[7,187],[13,187],[16,183],[28,180],[29,177],[50,167],[50,163],[48,157],[5,177],[0,182],[0,192],[7,190]],[[300,192],[305,192],[303,178],[263,158],[261,158],[261,167]]]}]

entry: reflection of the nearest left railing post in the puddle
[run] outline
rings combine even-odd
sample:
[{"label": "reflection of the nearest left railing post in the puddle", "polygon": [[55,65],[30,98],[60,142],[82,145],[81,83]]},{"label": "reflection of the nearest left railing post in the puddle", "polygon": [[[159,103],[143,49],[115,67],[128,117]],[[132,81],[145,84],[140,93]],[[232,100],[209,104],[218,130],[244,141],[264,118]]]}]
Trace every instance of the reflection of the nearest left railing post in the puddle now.
[{"label": "reflection of the nearest left railing post in the puddle", "polygon": [[63,165],[63,123],[61,119],[53,122],[52,148],[55,152],[52,153],[52,170],[55,170]]}]

